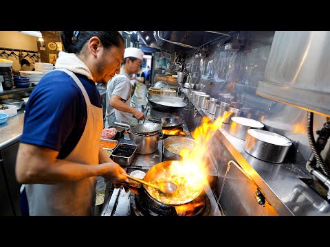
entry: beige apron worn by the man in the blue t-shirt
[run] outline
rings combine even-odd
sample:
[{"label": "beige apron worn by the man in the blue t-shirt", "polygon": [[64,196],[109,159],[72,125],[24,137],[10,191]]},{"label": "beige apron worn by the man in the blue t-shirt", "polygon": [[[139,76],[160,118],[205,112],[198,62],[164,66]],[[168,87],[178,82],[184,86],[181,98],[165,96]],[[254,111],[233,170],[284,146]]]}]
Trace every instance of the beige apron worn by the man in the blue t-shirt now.
[{"label": "beige apron worn by the man in the blue t-shirt", "polygon": [[[83,84],[74,73],[67,69],[56,70],[64,71],[74,79],[87,104],[85,130],[65,160],[82,165],[98,165],[100,134],[103,128],[102,108],[91,104]],[[56,185],[25,185],[30,215],[94,215],[96,180],[97,177],[94,176]]]}]

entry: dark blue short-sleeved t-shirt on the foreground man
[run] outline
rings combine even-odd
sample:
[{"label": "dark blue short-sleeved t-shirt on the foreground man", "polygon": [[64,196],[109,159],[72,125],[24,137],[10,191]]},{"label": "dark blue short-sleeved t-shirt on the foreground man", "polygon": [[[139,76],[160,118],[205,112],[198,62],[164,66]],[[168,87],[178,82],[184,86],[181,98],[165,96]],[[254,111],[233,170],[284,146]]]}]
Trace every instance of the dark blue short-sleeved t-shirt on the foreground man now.
[{"label": "dark blue short-sleeved t-shirt on the foreground man", "polygon": [[[77,74],[91,104],[101,106],[95,83]],[[87,107],[82,91],[67,73],[47,73],[33,89],[25,107],[22,143],[59,151],[65,158],[77,145],[87,122]]]}]

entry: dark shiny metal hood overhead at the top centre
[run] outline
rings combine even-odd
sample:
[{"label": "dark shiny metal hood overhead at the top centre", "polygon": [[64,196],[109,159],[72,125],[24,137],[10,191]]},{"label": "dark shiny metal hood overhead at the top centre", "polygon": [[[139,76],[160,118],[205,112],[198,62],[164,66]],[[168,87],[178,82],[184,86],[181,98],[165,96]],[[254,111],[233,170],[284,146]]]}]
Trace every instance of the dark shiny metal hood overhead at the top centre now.
[{"label": "dark shiny metal hood overhead at the top centre", "polygon": [[[141,43],[162,51],[188,54],[238,31],[137,31]],[[147,38],[148,37],[148,38]]]}]

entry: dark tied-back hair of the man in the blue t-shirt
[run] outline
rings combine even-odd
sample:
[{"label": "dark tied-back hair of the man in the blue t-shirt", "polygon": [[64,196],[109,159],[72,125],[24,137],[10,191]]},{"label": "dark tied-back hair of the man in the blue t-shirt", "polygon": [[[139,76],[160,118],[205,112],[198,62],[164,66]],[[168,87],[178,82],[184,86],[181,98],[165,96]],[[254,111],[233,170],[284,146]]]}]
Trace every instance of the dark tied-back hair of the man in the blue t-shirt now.
[{"label": "dark tied-back hair of the man in the blue t-shirt", "polygon": [[118,31],[62,31],[61,40],[68,53],[80,54],[83,46],[91,37],[98,37],[105,48],[120,47],[124,38]]}]

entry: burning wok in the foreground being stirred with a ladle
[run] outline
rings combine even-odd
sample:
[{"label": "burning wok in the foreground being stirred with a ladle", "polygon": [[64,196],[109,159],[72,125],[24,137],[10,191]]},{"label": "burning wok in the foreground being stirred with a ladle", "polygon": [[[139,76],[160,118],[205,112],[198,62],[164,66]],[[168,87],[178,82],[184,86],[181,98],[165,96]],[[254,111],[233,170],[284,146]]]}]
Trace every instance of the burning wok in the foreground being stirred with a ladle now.
[{"label": "burning wok in the foreground being stirred with a ladle", "polygon": [[143,185],[146,193],[154,200],[157,200],[157,202],[173,206],[185,204],[197,198],[201,191],[203,191],[204,185],[195,183],[195,181],[184,176],[184,174],[180,176],[180,166],[179,161],[164,161],[151,167],[143,178],[146,182],[155,185],[161,180],[168,180],[175,183],[177,190],[173,195],[166,195],[159,192],[158,189]]}]

